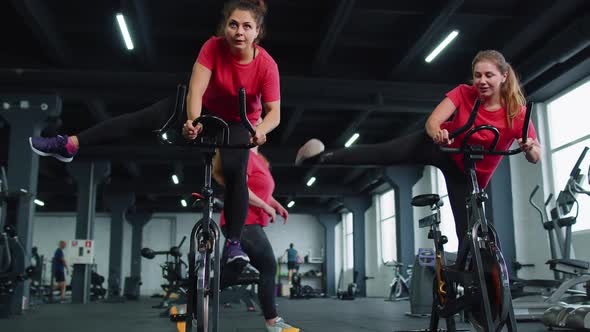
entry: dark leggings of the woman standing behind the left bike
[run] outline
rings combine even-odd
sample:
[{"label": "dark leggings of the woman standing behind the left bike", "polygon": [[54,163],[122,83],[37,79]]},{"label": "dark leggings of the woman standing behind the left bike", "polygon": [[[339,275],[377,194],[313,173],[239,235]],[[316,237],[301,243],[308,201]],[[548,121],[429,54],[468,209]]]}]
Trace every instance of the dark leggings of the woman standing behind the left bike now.
[{"label": "dark leggings of the woman standing behind the left bike", "polygon": [[[227,211],[224,207],[224,211]],[[224,227],[225,229],[225,227]],[[250,264],[260,272],[258,300],[265,319],[277,317],[275,306],[275,275],[277,262],[272,246],[260,225],[245,225],[242,231],[242,248],[250,257]],[[221,273],[221,288],[233,283],[240,271],[224,266]]]}]

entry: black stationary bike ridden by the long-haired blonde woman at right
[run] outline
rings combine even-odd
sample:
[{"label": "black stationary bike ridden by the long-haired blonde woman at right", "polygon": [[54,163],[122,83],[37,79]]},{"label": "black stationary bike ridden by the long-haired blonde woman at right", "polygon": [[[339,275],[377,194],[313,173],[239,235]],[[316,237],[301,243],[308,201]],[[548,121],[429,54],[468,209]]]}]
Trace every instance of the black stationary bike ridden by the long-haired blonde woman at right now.
[{"label": "black stationary bike ridden by the long-haired blonde woman at right", "polygon": [[[440,197],[436,194],[419,195],[412,199],[414,206],[430,206],[435,214],[423,218],[420,227],[430,227],[429,238],[434,240],[436,250],[436,273],[433,284],[434,300],[428,331],[438,331],[440,318],[444,318],[448,331],[455,331],[454,315],[463,311],[465,317],[477,331],[495,332],[504,326],[516,331],[516,320],[512,308],[510,285],[506,262],[500,250],[496,230],[488,224],[484,202],[487,194],[479,188],[475,164],[485,155],[513,155],[522,152],[520,148],[495,150],[499,132],[491,125],[471,128],[477,117],[478,100],[468,122],[449,134],[455,138],[467,132],[459,148],[440,147],[446,153],[463,155],[465,173],[469,180],[469,196],[466,199],[468,229],[464,245],[459,248],[453,264],[445,260],[444,244],[447,242],[438,228],[440,224]],[[532,103],[527,105],[522,137],[526,142]],[[470,145],[469,138],[479,131],[489,131],[494,140],[489,148]]]}]

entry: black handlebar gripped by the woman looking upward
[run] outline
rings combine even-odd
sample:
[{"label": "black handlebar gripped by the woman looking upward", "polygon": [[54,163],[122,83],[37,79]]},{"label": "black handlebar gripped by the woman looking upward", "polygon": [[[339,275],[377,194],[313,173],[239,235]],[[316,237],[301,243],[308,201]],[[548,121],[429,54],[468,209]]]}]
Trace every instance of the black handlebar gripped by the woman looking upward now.
[{"label": "black handlebar gripped by the woman looking upward", "polygon": [[[255,136],[256,131],[252,127],[252,124],[250,123],[250,120],[248,120],[248,116],[246,115],[246,89],[244,89],[244,88],[240,88],[238,90],[238,107],[239,107],[239,113],[240,113],[240,122],[242,123],[242,125],[244,125],[244,127],[248,130],[248,132],[250,132],[250,135]],[[223,119],[221,119],[217,116],[207,115],[207,114],[201,115],[200,117],[193,120],[193,126],[196,126],[199,123],[201,123],[203,125],[203,127],[205,127],[205,124],[208,124],[209,126],[213,126],[213,127],[215,127],[215,126],[220,127],[222,141],[221,142],[216,142],[216,141],[205,142],[205,141],[201,140],[201,142],[194,143],[197,146],[215,147],[215,148],[234,148],[234,149],[250,149],[250,148],[253,148],[254,146],[256,146],[256,144],[253,144],[253,143],[230,144],[229,143],[229,134],[230,134],[229,126],[228,126],[227,122],[225,122]]]}]

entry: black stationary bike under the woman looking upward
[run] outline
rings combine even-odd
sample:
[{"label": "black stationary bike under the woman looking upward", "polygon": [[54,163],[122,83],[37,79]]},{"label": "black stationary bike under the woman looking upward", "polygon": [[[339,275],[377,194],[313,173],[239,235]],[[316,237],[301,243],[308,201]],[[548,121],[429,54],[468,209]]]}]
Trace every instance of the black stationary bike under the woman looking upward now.
[{"label": "black stationary bike under the woman looking upward", "polygon": [[[179,89],[182,92],[177,94],[176,112],[183,111],[184,95],[186,95],[184,86]],[[181,95],[181,98],[178,98],[178,95]],[[256,132],[246,116],[246,90],[244,88],[238,90],[238,99],[240,120],[250,134],[255,136]],[[203,217],[195,223],[190,235],[186,313],[171,315],[170,319],[177,322],[184,321],[186,332],[190,332],[193,326],[197,328],[197,332],[217,332],[219,328],[221,266],[219,238],[221,230],[212,218],[214,207],[213,188],[211,187],[213,156],[217,149],[250,149],[254,145],[230,144],[228,124],[221,118],[202,115],[193,121],[194,126],[199,123],[203,125],[203,132],[199,134],[197,139],[187,143],[187,146],[189,150],[197,148],[204,157],[204,185],[200,193],[192,194],[195,198],[193,206],[202,205]],[[168,135],[158,133],[158,136],[165,143],[173,144],[166,138],[169,137]],[[209,315],[210,311],[211,316]],[[178,328],[181,329],[181,327]]]}]

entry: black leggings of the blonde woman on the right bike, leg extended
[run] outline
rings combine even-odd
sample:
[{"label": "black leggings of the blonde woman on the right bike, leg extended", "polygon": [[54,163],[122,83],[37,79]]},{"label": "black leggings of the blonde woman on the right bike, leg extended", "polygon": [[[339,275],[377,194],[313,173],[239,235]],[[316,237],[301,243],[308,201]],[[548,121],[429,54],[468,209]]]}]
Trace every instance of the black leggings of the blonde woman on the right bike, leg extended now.
[{"label": "black leggings of the blonde woman on the right bike, leg extended", "polygon": [[467,178],[451,157],[440,151],[425,130],[384,143],[354,145],[346,149],[325,152],[319,161],[344,165],[432,165],[439,168],[447,184],[449,201],[455,217],[455,231],[461,246],[467,232],[465,210],[465,198],[469,191]]}]

